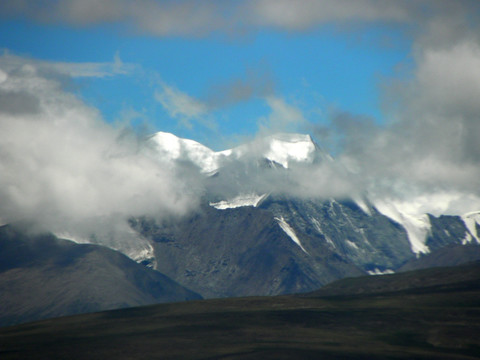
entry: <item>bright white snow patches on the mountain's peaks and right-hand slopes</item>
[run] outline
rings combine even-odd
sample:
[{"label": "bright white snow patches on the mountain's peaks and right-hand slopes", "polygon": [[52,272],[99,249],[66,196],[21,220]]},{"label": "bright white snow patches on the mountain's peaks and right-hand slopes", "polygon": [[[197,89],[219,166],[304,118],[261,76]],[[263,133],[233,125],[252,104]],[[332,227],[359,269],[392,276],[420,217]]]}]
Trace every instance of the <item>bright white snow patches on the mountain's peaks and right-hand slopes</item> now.
[{"label": "bright white snow patches on the mountain's peaks and right-hand slopes", "polygon": [[[311,164],[315,159],[334,161],[329,154],[320,149],[310,135],[305,134],[278,133],[223,151],[213,151],[194,140],[179,138],[165,132],[155,133],[148,142],[154,150],[153,156],[171,161],[190,161],[204,174],[214,174],[229,161],[251,162],[258,160],[259,157],[278,164],[284,169],[288,169],[293,163]],[[219,210],[243,206],[257,207],[267,197],[268,194],[256,194],[251,191],[233,193],[229,198],[210,202],[210,206]],[[426,201],[431,202],[430,200],[438,202],[436,198]],[[375,208],[400,224],[407,232],[413,253],[418,255],[430,252],[426,242],[431,235],[431,224],[427,213],[419,213],[418,200],[410,204],[353,196],[352,201],[366,214],[371,214],[371,209]],[[434,206],[438,207],[438,204]],[[480,226],[480,212],[458,214],[458,216],[468,229],[463,243],[475,241],[480,244],[480,234],[477,234],[477,225]]]}]

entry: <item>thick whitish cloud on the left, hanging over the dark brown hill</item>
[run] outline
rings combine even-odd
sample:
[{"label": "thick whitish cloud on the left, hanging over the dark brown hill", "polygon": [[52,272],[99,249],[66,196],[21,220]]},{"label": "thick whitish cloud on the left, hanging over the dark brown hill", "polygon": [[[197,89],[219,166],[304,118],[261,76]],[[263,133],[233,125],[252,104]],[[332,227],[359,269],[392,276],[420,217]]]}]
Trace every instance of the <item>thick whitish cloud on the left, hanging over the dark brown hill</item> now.
[{"label": "thick whitish cloud on the left, hanging over the dark brown hill", "polygon": [[55,67],[0,57],[3,222],[36,220],[88,237],[107,224],[122,227],[128,216],[195,206],[195,186],[174,164],[146,156],[133,133],[106,124],[58,76]]}]

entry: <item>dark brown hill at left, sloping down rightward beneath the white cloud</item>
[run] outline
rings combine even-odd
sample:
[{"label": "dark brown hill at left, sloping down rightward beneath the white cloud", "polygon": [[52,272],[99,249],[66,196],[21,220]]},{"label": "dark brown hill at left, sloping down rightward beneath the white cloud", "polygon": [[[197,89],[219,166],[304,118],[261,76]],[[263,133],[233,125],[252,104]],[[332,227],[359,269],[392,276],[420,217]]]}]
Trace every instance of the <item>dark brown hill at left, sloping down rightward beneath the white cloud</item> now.
[{"label": "dark brown hill at left, sloping down rightward beneath the white cloud", "polygon": [[200,298],[117,251],[0,227],[0,326]]}]

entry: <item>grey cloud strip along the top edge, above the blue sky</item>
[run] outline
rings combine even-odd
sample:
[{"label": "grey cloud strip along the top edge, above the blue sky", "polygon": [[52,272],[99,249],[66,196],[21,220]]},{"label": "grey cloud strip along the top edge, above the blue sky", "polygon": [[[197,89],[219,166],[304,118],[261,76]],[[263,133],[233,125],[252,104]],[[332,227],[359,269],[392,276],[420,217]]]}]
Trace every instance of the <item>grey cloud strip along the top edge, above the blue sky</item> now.
[{"label": "grey cloud strip along the top edge, above the blue sky", "polygon": [[[476,11],[476,12],[475,12]],[[424,24],[442,37],[462,31],[467,18],[474,26],[476,0],[4,0],[0,14],[43,23],[85,27],[103,23],[128,24],[132,31],[156,36],[202,36],[212,32],[238,35],[270,27],[304,31],[323,24]],[[442,21],[437,21],[443,18]],[[446,25],[445,25],[446,24]],[[455,25],[455,26],[453,26]],[[478,29],[478,22],[477,22]],[[432,38],[430,38],[432,40]]]}]

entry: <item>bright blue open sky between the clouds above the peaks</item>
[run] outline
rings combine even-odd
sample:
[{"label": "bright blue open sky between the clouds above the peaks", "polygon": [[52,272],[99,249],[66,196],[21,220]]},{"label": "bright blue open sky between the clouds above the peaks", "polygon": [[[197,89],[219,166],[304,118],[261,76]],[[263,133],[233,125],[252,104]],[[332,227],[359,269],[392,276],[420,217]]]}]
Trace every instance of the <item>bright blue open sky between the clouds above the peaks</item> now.
[{"label": "bright blue open sky between the clouds above the peaks", "polygon": [[[50,62],[131,65],[125,74],[74,77],[75,92],[107,122],[130,119],[145,131],[168,131],[220,149],[259,130],[275,97],[306,122],[272,131],[309,132],[344,111],[386,121],[380,89],[411,64],[402,26],[374,23],[354,30],[319,24],[302,31],[259,28],[201,36],[132,31],[121,22],[91,26],[43,23],[22,16],[0,23],[0,47]],[[403,69],[399,72],[399,69]],[[206,104],[201,115],[172,116],[156,99],[163,86]],[[238,94],[238,88],[250,94]]]}]

